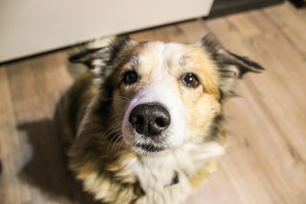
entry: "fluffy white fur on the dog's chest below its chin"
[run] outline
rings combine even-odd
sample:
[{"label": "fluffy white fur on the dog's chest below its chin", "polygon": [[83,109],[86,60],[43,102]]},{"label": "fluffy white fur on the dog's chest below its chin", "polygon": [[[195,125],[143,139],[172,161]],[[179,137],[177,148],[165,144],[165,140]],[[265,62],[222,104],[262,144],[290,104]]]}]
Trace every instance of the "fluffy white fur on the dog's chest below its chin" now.
[{"label": "fluffy white fur on the dog's chest below its chin", "polygon": [[[223,147],[210,142],[186,144],[178,150],[156,157],[139,156],[123,164],[126,173],[136,175],[146,192],[138,203],[180,203],[191,193],[188,176],[203,168],[211,159],[223,154]],[[178,183],[171,185],[177,175]]]}]

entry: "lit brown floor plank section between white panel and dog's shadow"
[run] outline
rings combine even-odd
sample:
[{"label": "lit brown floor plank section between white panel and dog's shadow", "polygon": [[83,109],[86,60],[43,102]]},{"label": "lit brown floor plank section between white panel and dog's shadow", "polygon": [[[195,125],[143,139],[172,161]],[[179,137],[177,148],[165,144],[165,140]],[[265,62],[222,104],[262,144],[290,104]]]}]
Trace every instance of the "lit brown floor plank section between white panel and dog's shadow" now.
[{"label": "lit brown floor plank section between white panel and dog's shadow", "polygon": [[59,90],[72,82],[66,59],[62,51],[7,65],[17,123],[52,116]]}]

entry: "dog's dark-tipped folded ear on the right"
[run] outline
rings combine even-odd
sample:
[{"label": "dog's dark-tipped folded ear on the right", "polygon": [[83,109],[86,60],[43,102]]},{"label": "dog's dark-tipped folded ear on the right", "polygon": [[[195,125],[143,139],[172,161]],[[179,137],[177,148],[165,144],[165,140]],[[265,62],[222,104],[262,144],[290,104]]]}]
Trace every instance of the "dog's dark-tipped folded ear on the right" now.
[{"label": "dog's dark-tipped folded ear on the right", "polygon": [[224,97],[232,96],[235,81],[246,72],[263,72],[262,66],[247,57],[233,54],[226,50],[212,34],[206,35],[196,43],[201,46],[216,63],[219,73],[219,89]]}]

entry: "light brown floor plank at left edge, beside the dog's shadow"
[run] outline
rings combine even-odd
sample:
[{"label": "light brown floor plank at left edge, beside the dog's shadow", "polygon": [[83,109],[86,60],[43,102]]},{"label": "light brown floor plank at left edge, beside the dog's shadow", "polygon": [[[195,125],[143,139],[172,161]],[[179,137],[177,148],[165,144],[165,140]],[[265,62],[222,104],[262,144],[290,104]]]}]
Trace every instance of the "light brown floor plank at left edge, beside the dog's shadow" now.
[{"label": "light brown floor plank at left edge, beside the dog's shadow", "polygon": [[0,66],[0,87],[0,158],[3,168],[0,176],[0,203],[20,203],[31,199],[27,185],[18,179],[19,171],[29,160],[29,155],[24,154],[28,146],[22,145],[24,138],[19,137],[16,131],[5,66]]}]

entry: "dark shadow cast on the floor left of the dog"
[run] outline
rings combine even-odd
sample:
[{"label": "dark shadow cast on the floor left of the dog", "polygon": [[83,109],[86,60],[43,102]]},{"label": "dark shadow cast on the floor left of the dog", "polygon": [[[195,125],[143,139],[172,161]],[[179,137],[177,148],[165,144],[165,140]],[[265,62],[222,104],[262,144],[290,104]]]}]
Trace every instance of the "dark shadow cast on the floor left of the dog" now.
[{"label": "dark shadow cast on the floor left of the dog", "polygon": [[55,202],[62,203],[59,199],[64,197],[71,203],[98,203],[82,191],[80,182],[69,172],[65,150],[58,136],[60,132],[52,120],[21,124],[17,128],[27,132],[33,149],[31,160],[19,174],[22,182],[39,187],[43,194],[47,193],[48,199]]}]

